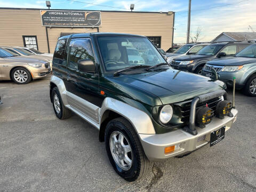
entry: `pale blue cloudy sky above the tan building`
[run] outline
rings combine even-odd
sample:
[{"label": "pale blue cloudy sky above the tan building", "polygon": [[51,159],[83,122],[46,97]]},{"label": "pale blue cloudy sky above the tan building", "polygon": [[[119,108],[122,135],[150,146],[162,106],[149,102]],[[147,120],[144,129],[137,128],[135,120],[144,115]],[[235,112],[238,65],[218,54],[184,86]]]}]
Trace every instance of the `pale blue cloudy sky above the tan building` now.
[{"label": "pale blue cloudy sky above the tan building", "polygon": [[[130,4],[134,11],[174,11],[174,43],[186,42],[188,0],[52,0],[51,9],[130,11]],[[47,8],[39,0],[0,0],[0,7]],[[207,42],[223,31],[252,32],[249,25],[256,33],[255,7],[256,0],[191,0],[191,35],[199,27],[199,41]]]}]

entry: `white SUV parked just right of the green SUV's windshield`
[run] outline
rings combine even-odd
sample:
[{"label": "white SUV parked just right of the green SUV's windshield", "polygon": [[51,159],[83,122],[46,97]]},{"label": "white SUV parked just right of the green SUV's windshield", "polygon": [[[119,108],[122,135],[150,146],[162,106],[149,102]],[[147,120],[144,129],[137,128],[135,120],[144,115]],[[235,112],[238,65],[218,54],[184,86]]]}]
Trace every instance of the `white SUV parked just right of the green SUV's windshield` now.
[{"label": "white SUV parked just right of the green SUV's windshield", "polygon": [[188,43],[186,45],[183,45],[173,53],[166,54],[167,62],[171,63],[174,58],[178,58],[183,55],[196,54],[199,50],[203,49],[206,45],[209,44],[210,43]]}]

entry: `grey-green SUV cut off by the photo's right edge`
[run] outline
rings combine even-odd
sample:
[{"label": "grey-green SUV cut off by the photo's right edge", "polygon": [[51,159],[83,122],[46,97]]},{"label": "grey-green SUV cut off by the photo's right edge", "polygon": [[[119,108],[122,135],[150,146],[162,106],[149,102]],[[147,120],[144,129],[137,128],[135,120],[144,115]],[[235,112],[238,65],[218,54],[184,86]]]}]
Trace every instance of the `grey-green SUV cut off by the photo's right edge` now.
[{"label": "grey-green SUV cut off by the photo's right edge", "polygon": [[236,89],[243,89],[245,94],[256,96],[256,44],[246,47],[234,57],[207,62],[202,75],[211,77],[212,68],[217,71],[219,79],[228,86],[233,86],[235,77]]}]

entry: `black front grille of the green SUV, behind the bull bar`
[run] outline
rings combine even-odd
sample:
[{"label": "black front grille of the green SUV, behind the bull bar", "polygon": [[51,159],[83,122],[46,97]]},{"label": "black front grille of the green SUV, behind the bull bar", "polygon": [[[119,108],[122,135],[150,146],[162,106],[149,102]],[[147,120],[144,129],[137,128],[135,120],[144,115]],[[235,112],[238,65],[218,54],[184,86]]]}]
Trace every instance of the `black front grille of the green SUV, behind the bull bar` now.
[{"label": "black front grille of the green SUV, behind the bull bar", "polygon": [[[208,107],[210,107],[213,111],[215,111],[217,103],[221,101],[221,98],[214,98],[208,101],[204,101],[201,103],[198,103],[196,106],[196,110],[198,110],[201,107],[205,107],[206,103]],[[191,100],[187,102],[182,102],[182,103],[175,103],[174,105],[178,105],[180,108],[180,117],[181,121],[187,125],[189,123],[189,115],[190,115],[190,105],[191,105]]]}]

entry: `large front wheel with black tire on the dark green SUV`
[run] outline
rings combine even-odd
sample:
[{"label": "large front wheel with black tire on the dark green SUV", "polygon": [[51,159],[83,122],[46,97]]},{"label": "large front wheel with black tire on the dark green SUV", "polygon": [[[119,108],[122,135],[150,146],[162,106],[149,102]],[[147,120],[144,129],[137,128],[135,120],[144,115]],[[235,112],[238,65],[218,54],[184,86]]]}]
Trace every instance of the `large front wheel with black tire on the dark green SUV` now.
[{"label": "large front wheel with black tire on the dark green SUV", "polygon": [[[125,153],[124,148],[121,147],[123,145],[116,142],[114,143],[113,138],[115,137],[118,140],[119,137],[121,137],[120,136],[121,134],[123,135],[123,145],[126,146],[125,148],[127,148],[127,146],[130,146],[131,151],[129,153]],[[111,145],[111,143],[112,144],[114,143],[114,145]],[[119,117],[111,120],[107,124],[106,131],[105,131],[105,144],[106,144],[106,150],[107,150],[108,158],[111,165],[114,167],[114,170],[117,172],[117,174],[119,174],[125,180],[135,181],[137,179],[141,179],[148,174],[149,170],[151,170],[153,163],[150,162],[146,157],[137,133],[134,131],[130,122],[127,121],[125,118]],[[110,148],[112,148],[113,150],[110,150]],[[130,158],[131,160],[130,167],[129,167],[129,164],[126,163],[125,161],[123,162],[124,164],[127,165],[126,167],[121,167],[122,165],[121,166],[118,165],[117,163],[118,155],[116,154],[118,153],[118,151],[119,151],[118,155],[121,156],[121,158],[119,159],[122,159],[122,157],[125,158],[125,156]],[[124,153],[122,154],[121,151]],[[127,158],[126,158],[126,161],[127,161]]]}]

